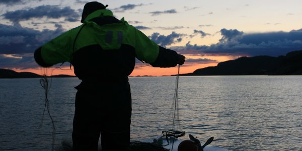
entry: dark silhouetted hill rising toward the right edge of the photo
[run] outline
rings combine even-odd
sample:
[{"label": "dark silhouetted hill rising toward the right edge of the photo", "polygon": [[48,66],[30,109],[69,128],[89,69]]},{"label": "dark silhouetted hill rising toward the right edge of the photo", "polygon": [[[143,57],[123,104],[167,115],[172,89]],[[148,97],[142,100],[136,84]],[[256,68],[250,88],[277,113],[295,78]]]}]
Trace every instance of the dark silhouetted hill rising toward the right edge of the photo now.
[{"label": "dark silhouetted hill rising toward the right edge of the photo", "polygon": [[181,75],[302,75],[302,50],[278,57],[240,57]]}]

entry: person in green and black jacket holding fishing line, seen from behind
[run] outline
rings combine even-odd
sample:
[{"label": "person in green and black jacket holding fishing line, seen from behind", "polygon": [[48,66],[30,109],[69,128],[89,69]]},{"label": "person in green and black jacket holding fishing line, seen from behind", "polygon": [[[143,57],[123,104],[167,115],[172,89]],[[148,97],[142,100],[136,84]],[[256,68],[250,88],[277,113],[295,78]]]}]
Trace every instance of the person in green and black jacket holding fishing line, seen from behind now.
[{"label": "person in green and black jacket holding fishing line, seen from behind", "polygon": [[[107,6],[106,6],[107,7]],[[35,51],[44,67],[70,62],[82,80],[75,87],[73,150],[126,150],[130,142],[131,94],[128,75],[135,57],[154,67],[182,65],[183,55],[157,45],[98,2],[84,6],[83,25]]]}]

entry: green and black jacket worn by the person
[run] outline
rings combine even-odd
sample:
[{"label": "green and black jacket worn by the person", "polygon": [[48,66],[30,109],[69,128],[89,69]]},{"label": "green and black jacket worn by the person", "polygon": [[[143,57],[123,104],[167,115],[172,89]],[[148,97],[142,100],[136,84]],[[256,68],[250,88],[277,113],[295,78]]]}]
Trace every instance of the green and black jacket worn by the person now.
[{"label": "green and black jacket worn by the person", "polygon": [[133,70],[135,57],[154,67],[177,65],[178,54],[150,40],[110,10],[91,13],[73,28],[35,51],[41,66],[70,62],[83,81],[94,78],[123,79]]}]

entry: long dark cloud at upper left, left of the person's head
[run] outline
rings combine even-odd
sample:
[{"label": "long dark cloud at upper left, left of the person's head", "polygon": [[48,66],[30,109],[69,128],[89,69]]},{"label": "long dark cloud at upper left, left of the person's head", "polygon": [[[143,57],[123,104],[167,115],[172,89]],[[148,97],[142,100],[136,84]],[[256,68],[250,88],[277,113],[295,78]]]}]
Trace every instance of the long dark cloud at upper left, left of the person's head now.
[{"label": "long dark cloud at upper left, left of the person's head", "polygon": [[59,6],[43,5],[36,8],[29,8],[27,10],[17,10],[13,12],[7,12],[3,14],[5,19],[10,20],[15,24],[19,24],[20,21],[26,21],[33,18],[53,18],[58,19],[65,18],[65,21],[79,21],[81,17],[78,12],[70,9],[70,7],[60,8]]}]

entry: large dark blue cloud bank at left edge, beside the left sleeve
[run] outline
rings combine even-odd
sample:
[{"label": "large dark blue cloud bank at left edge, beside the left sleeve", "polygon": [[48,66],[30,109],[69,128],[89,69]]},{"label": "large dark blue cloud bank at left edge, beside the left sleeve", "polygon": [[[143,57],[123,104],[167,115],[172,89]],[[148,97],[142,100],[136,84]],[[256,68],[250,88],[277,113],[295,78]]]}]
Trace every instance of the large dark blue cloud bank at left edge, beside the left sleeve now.
[{"label": "large dark blue cloud bank at left edge, beside the left sleeve", "polygon": [[61,25],[55,24],[55,27],[56,30],[38,31],[0,24],[1,68],[37,67],[33,58],[35,49],[64,32]]}]

